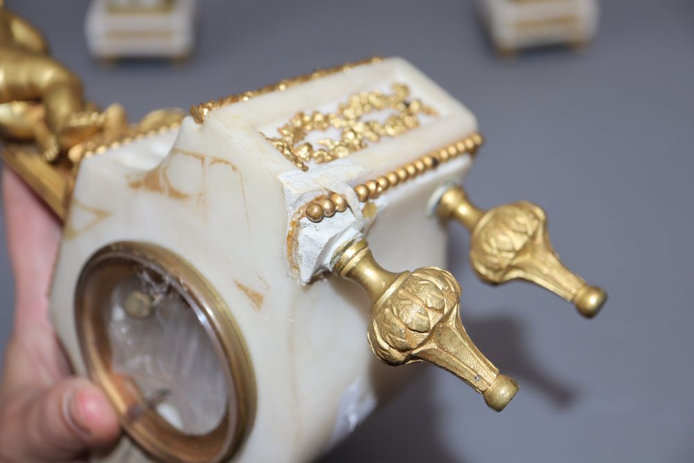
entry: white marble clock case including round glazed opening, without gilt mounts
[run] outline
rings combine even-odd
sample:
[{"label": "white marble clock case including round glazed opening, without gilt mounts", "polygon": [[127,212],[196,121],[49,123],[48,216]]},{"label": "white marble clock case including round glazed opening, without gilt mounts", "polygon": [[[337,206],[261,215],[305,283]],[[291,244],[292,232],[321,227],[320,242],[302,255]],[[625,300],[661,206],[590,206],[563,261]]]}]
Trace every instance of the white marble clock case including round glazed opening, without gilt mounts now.
[{"label": "white marble clock case including round glazed opening, without gilt mounts", "polygon": [[[393,83],[435,108],[402,133],[306,171],[266,138],[297,112],[388,95]],[[461,178],[470,153],[368,203],[353,187],[476,128],[471,112],[394,58],[84,158],[51,307],[74,367],[105,388],[128,431],[99,460],[306,461],[351,430],[398,370],[369,352],[356,287],[316,275],[359,233],[391,268],[444,267],[446,233],[428,201]],[[349,208],[297,219],[326,193]]]}]

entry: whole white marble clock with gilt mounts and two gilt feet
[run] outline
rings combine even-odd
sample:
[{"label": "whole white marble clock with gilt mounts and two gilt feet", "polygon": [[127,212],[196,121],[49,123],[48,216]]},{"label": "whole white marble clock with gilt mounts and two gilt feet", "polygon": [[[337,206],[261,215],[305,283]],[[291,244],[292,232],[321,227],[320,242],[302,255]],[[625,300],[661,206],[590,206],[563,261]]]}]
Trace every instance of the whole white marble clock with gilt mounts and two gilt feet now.
[{"label": "whole white marble clock with gilt mounts and two gilt feet", "polygon": [[47,110],[0,105],[3,160],[65,222],[51,317],[125,430],[95,462],[314,460],[416,370],[391,366],[421,361],[503,410],[518,385],[468,337],[441,268],[450,219],[486,282],[529,280],[584,317],[605,301],[538,206],[471,203],[475,117],[400,58],[132,125],[84,103],[60,151],[27,129]]}]

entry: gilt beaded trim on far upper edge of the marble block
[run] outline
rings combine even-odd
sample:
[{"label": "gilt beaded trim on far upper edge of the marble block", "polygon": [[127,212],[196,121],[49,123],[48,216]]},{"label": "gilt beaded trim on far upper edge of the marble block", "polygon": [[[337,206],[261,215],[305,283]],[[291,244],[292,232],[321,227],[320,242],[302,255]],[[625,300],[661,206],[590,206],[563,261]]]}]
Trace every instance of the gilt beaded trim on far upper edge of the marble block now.
[{"label": "gilt beaded trim on far upper edge of the marble block", "polygon": [[285,79],[284,81],[280,81],[278,83],[265,85],[257,90],[224,96],[223,98],[208,101],[206,103],[199,103],[190,107],[190,115],[198,124],[202,124],[210,111],[222,108],[223,106],[238,103],[239,101],[248,101],[251,98],[255,98],[255,96],[264,95],[270,92],[283,92],[290,87],[296,87],[296,85],[313,81],[317,78],[330,76],[331,74],[337,74],[339,72],[345,72],[357,66],[370,65],[380,62],[381,60],[382,58],[375,56],[373,58],[367,58],[366,60],[347,62],[344,65],[329,67],[327,69],[316,69],[316,71],[313,71],[310,74],[303,74],[294,78]]}]

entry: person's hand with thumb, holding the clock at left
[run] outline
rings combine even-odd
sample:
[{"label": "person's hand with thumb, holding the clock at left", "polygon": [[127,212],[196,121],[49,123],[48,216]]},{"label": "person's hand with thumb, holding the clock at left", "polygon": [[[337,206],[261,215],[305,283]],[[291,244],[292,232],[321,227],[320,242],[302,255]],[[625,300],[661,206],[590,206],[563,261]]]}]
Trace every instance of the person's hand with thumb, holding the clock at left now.
[{"label": "person's hand with thumb, holding the clock at left", "polygon": [[16,174],[3,169],[15,323],[0,382],[0,462],[85,460],[119,436],[108,398],[73,376],[48,316],[60,224]]}]

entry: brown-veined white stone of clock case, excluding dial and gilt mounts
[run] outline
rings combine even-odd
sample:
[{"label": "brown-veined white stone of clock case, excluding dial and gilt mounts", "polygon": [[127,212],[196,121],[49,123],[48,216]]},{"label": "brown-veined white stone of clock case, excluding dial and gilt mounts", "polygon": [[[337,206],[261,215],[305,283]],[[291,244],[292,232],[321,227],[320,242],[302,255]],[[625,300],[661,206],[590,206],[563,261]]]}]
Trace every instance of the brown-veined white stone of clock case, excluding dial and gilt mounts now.
[{"label": "brown-veined white stone of clock case, excluding dial and gilt mounts", "polygon": [[[344,158],[309,162],[307,171],[267,140],[299,111],[332,111],[349,95],[387,92],[393,83],[407,85],[436,115]],[[233,460],[318,457],[416,367],[378,362],[366,342],[366,296],[316,274],[335,246],[357,233],[387,269],[444,267],[446,230],[427,204],[441,183],[462,177],[471,157],[460,155],[375,201],[358,201],[353,187],[476,130],[464,106],[405,60],[390,58],[223,106],[201,124],[187,117],[177,132],[85,159],[51,293],[53,319],[74,367],[86,373],[73,315],[85,261],[110,242],[158,244],[217,289],[244,335],[257,410]],[[296,219],[298,208],[325,192],[344,194],[350,209],[318,223]],[[290,239],[296,245],[288,249]],[[124,437],[96,461],[148,460]]]}]

